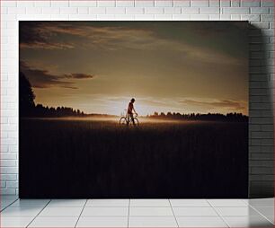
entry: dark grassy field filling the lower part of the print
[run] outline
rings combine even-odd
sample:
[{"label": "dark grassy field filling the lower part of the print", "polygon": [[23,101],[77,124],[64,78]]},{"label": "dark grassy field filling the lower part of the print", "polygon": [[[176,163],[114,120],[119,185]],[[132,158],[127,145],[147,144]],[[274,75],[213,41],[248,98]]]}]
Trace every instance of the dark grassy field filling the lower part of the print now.
[{"label": "dark grassy field filling the lower part of the print", "polygon": [[247,197],[247,127],[20,119],[20,197]]}]

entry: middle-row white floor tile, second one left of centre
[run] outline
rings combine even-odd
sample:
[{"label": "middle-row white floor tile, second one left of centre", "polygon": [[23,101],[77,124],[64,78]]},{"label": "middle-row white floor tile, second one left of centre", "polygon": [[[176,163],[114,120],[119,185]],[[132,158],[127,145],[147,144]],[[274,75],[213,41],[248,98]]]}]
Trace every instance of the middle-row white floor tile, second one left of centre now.
[{"label": "middle-row white floor tile, second one left of centre", "polygon": [[[15,208],[15,207],[14,207]],[[40,213],[40,217],[76,217],[79,216],[83,207],[45,207]]]}]

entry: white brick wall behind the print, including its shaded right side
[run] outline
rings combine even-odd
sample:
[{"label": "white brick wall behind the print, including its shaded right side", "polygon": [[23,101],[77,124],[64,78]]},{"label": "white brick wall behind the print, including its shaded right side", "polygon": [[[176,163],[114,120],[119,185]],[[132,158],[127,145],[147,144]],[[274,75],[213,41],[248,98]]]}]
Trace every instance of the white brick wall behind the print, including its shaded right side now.
[{"label": "white brick wall behind the print, including its shaded right side", "polygon": [[250,21],[255,28],[250,31],[249,190],[251,197],[273,194],[273,0],[2,0],[0,4],[1,194],[18,193],[19,20]]}]

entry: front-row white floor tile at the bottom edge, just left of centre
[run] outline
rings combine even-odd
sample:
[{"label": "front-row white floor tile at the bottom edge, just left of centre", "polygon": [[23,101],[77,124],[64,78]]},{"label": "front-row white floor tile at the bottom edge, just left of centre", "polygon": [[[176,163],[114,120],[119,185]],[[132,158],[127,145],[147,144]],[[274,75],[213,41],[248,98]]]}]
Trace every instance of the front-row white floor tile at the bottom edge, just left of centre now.
[{"label": "front-row white floor tile at the bottom edge, just left of centre", "polygon": [[80,217],[76,227],[128,227],[128,217]]}]

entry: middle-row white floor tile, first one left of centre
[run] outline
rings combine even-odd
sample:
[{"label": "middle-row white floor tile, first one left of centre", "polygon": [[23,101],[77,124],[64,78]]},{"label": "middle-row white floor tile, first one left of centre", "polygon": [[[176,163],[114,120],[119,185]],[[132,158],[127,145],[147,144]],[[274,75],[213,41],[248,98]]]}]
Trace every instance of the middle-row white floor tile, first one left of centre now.
[{"label": "middle-row white floor tile, first one left of centre", "polygon": [[128,216],[129,207],[84,207],[81,216]]}]

